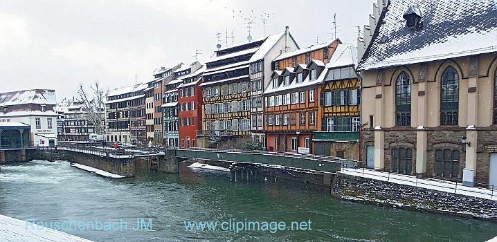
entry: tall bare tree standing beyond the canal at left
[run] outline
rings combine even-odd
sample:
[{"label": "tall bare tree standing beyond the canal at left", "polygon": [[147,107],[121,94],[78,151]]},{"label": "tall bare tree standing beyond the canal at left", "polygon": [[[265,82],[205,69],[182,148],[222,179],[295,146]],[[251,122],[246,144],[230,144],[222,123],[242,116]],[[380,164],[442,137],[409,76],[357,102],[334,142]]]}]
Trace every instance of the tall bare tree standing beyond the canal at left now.
[{"label": "tall bare tree standing beyond the canal at left", "polygon": [[89,92],[84,90],[84,86],[78,86],[78,102],[87,115],[87,119],[95,124],[96,132],[105,134],[105,104],[104,91],[100,88],[98,80],[90,86]]}]

